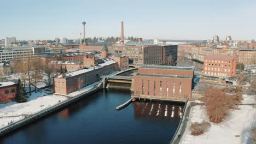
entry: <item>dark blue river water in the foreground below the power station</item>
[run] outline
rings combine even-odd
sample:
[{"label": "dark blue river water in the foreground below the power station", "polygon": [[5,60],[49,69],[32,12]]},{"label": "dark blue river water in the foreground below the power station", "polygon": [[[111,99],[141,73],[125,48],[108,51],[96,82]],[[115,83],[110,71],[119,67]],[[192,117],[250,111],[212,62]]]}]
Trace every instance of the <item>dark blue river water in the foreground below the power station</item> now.
[{"label": "dark blue river water in the foreground below the power station", "polygon": [[143,100],[115,109],[130,98],[130,91],[98,91],[1,137],[0,143],[169,143],[184,104]]}]

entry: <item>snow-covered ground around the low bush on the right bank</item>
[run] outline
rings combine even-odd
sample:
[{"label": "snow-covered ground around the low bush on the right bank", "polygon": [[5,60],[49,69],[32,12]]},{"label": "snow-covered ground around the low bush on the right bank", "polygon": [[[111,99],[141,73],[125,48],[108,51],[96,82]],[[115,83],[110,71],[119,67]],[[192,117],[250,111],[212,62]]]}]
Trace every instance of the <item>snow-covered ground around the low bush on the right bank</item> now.
[{"label": "snow-covered ground around the low bush on the right bank", "polygon": [[[248,103],[255,95],[243,95],[243,103]],[[205,106],[194,106],[191,109],[189,124],[205,120],[211,123],[211,128],[202,135],[193,136],[188,128],[185,130],[180,143],[249,143],[249,133],[255,121],[256,107],[252,105],[240,105],[240,110],[230,110],[224,122],[219,124],[210,122],[206,115]],[[240,135],[240,137],[236,137]]]}]

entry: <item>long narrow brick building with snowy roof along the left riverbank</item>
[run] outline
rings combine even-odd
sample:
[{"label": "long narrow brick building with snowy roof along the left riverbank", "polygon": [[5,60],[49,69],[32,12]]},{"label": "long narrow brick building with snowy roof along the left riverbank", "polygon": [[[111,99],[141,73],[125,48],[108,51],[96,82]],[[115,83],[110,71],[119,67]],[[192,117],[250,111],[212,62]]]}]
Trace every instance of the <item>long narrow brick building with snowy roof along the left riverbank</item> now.
[{"label": "long narrow brick building with snowy roof along the left riverbank", "polygon": [[106,75],[118,70],[117,62],[106,59],[104,63],[98,64],[95,67],[81,69],[71,73],[62,74],[54,77],[54,91],[58,94],[69,94],[101,80],[101,75]]}]

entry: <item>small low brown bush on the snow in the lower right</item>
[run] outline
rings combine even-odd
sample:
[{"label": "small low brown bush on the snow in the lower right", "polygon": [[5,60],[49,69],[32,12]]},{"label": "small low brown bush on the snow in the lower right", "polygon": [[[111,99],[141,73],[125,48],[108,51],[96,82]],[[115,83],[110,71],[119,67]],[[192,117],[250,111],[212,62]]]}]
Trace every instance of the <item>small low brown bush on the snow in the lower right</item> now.
[{"label": "small low brown bush on the snow in the lower right", "polygon": [[204,131],[208,130],[211,127],[211,124],[206,121],[201,123],[194,122],[190,125],[191,135],[201,135]]}]

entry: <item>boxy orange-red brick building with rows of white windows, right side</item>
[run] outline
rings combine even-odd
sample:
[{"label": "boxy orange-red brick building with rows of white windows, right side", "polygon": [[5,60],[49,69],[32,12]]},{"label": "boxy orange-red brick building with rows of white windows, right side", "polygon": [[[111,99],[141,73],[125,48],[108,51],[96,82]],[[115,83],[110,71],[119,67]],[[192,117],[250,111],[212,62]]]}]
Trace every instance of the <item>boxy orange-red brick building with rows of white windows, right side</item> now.
[{"label": "boxy orange-red brick building with rows of white windows, right side", "polygon": [[236,57],[227,55],[207,55],[203,61],[203,75],[230,77],[236,75]]}]

